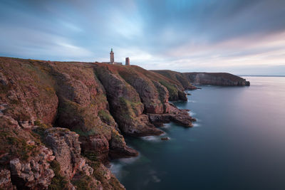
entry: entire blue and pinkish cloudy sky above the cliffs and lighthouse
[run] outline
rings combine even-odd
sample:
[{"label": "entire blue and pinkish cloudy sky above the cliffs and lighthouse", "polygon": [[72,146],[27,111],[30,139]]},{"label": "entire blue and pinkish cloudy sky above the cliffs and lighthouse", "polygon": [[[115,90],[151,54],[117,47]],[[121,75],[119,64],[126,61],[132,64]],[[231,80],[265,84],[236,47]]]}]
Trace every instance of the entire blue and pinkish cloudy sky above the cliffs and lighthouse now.
[{"label": "entire blue and pinkish cloudy sky above the cliffs and lighthouse", "polygon": [[285,75],[284,0],[0,0],[0,56]]}]

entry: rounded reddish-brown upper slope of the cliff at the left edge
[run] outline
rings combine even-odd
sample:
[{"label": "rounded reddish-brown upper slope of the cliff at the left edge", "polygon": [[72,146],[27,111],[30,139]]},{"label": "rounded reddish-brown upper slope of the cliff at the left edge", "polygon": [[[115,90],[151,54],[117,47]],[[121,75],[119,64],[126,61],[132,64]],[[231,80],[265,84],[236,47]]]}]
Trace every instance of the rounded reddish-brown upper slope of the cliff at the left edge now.
[{"label": "rounded reddish-brown upper slope of the cliff at the left edge", "polygon": [[9,104],[5,115],[17,121],[31,122],[41,119],[52,123],[56,117],[58,97],[51,78],[29,60],[5,61],[0,58],[1,102]]}]

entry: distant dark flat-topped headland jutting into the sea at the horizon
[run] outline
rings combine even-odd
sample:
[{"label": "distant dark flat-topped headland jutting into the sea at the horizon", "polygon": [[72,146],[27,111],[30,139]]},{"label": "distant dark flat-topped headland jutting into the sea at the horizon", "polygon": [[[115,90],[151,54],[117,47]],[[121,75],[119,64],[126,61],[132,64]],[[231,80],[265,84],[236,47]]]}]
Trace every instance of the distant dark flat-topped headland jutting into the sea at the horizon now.
[{"label": "distant dark flat-topped headland jutting into the sea at the horizon", "polygon": [[[229,73],[178,73],[172,70],[152,70],[176,80],[184,89],[195,89],[193,85],[250,85],[249,81]],[[193,85],[192,85],[193,84]]]}]

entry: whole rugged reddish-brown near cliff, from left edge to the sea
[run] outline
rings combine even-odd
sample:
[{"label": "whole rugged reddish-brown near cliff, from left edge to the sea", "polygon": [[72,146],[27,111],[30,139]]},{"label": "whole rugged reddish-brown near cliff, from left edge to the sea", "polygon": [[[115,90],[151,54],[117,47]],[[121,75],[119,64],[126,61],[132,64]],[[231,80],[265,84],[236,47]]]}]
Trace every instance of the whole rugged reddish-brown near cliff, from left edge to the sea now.
[{"label": "whole rugged reddish-brown near cliff, from left edge to the sea", "polygon": [[0,58],[0,188],[124,189],[102,163],[138,152],[123,134],[194,120],[180,82],[137,66]]}]

